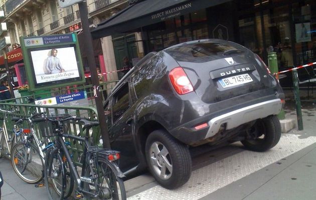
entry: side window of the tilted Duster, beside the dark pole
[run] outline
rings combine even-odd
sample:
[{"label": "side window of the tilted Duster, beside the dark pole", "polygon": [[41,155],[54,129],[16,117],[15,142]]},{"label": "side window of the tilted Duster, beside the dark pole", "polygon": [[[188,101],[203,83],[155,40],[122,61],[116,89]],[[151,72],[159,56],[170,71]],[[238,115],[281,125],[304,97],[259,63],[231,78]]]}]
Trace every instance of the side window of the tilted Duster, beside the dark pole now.
[{"label": "side window of the tilted Duster, beside the dark pole", "polygon": [[113,121],[116,121],[129,108],[128,83],[125,83],[113,95]]}]

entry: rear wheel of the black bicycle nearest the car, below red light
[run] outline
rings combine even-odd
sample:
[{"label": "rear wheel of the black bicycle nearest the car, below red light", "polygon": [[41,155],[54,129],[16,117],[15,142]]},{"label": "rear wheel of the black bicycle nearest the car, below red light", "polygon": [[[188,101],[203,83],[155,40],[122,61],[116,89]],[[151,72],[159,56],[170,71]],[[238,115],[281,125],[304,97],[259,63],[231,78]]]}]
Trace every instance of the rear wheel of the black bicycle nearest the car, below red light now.
[{"label": "rear wheel of the black bicycle nearest the car, below red light", "polygon": [[[85,177],[92,178],[92,173],[87,163]],[[112,200],[124,200],[126,199],[125,186],[122,178],[117,176],[114,163],[109,162],[103,157],[98,157],[98,167],[93,168],[93,174],[98,175],[97,184],[84,183],[84,190],[95,193],[99,190],[96,197],[84,196],[86,199],[112,199]],[[98,187],[96,189],[95,187]]]}]

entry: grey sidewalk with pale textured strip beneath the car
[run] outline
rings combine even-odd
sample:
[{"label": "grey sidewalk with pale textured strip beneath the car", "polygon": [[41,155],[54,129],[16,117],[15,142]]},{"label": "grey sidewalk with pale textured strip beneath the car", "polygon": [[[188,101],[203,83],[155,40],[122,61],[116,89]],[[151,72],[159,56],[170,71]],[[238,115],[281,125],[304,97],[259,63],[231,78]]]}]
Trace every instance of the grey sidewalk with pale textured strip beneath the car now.
[{"label": "grey sidewalk with pale textured strip beneath the car", "polygon": [[[290,99],[291,97],[288,97]],[[193,173],[185,185],[167,190],[152,176],[140,175],[125,181],[128,199],[215,199],[215,200],[313,200],[316,196],[316,105],[303,105],[303,126],[282,133],[280,142],[266,152],[245,150],[239,142],[216,150],[193,153]],[[286,118],[294,118],[293,105]],[[8,159],[0,159],[5,184],[2,200],[46,200],[46,188],[23,182]]]}]

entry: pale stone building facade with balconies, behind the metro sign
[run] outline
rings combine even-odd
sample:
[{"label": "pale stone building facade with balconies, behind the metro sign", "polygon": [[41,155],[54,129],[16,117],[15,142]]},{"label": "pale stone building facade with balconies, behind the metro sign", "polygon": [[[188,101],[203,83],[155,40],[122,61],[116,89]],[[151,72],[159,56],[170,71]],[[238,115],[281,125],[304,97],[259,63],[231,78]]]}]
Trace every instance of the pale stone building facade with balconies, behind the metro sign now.
[{"label": "pale stone building facade with balconies, behind the metro sign", "polygon": [[[59,0],[1,0],[1,10],[4,10],[7,22],[8,36],[11,37],[13,50],[20,44],[20,36],[39,36],[48,34],[63,34],[76,31],[78,33],[85,71],[89,72],[84,42],[81,38],[81,20],[78,4],[61,8]],[[127,0],[87,0],[90,28],[126,7]],[[111,36],[93,41],[94,55],[97,66],[102,72],[115,69],[112,60],[113,44]],[[105,49],[105,50],[102,50]],[[112,49],[112,52],[111,50]],[[109,56],[104,56],[109,55]],[[114,66],[112,66],[114,64]],[[108,68],[108,69],[106,69]],[[117,79],[117,75],[113,77]]]}]

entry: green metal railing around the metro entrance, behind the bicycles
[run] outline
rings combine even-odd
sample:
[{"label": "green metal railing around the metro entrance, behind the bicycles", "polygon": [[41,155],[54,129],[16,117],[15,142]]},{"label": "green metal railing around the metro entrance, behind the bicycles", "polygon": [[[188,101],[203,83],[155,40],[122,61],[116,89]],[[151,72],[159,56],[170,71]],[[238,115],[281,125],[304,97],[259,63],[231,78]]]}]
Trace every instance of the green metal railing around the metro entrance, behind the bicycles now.
[{"label": "green metal railing around the metro entrance, behind the bicycles", "polygon": [[[115,85],[116,81],[110,81],[101,83],[100,85],[103,85],[103,90],[110,90]],[[101,87],[102,88],[102,87]],[[34,100],[36,99],[43,99],[43,98],[49,98],[52,96],[72,93],[72,92],[78,92],[78,91],[86,91],[89,106],[83,107],[83,106],[61,106],[61,105],[36,105],[34,104]],[[55,88],[48,91],[42,91],[39,92],[28,92],[30,95],[25,95],[18,98],[12,98],[12,99],[6,99],[6,100],[0,100],[0,107],[5,110],[15,110],[14,113],[7,113],[6,118],[6,125],[9,131],[9,134],[13,134],[13,126],[14,121],[12,121],[13,116],[17,117],[28,117],[31,116],[34,112],[43,112],[45,111],[48,116],[52,115],[58,115],[63,113],[69,113],[72,116],[80,116],[89,118],[90,120],[98,120],[97,110],[95,108],[95,101],[93,96],[93,90],[92,85],[76,85],[71,86],[68,88]],[[32,100],[31,100],[32,99]],[[0,117],[4,117],[4,112],[0,111]],[[3,125],[2,122],[1,126]],[[43,122],[44,123],[44,122]],[[36,123],[34,124],[34,129],[37,134],[37,136],[40,138],[40,140],[44,140],[42,137],[41,132],[42,131],[49,131],[49,124],[47,122],[43,123]],[[28,127],[28,124],[26,121],[24,121],[23,127]],[[73,122],[68,121],[65,123],[64,132],[72,135],[85,135],[85,131],[82,130],[82,126],[79,124],[79,122]],[[89,140],[92,145],[98,145],[99,139],[100,139],[100,127],[96,126],[92,128],[93,134],[90,135]],[[73,156],[73,160],[76,164],[80,165],[78,161],[78,157],[80,157],[81,152],[83,151],[83,147],[81,142],[75,142],[70,139],[66,139],[66,141],[70,142],[69,150],[70,153]]]}]

